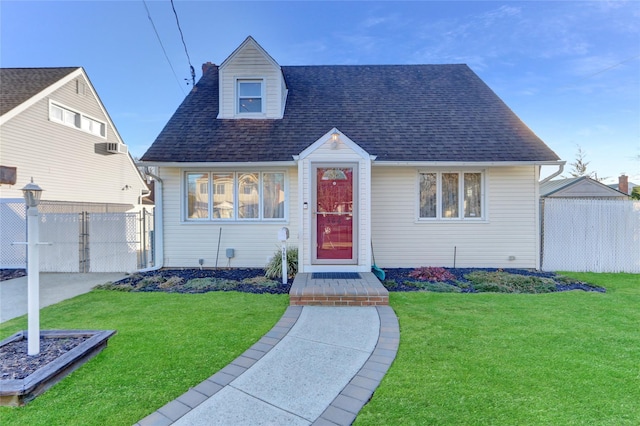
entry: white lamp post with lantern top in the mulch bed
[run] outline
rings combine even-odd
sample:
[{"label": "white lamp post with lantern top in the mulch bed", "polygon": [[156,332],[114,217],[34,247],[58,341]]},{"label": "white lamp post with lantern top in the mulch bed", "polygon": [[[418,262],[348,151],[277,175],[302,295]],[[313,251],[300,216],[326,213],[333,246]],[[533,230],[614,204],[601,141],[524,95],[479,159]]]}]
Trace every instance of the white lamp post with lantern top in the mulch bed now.
[{"label": "white lamp post with lantern top in the mulch bed", "polygon": [[40,256],[38,253],[40,223],[38,204],[40,204],[42,188],[33,183],[33,178],[31,178],[31,183],[22,188],[22,193],[27,205],[27,353],[38,355],[40,353]]}]

